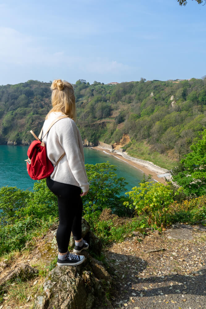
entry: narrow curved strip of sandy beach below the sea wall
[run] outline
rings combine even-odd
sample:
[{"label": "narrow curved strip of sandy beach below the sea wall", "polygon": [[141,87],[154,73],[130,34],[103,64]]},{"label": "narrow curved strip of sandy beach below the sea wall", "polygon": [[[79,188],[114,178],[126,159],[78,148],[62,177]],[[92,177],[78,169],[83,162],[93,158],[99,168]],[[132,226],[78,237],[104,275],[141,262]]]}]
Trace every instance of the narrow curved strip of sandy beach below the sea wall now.
[{"label": "narrow curved strip of sandy beach below the sea wall", "polygon": [[161,177],[159,178],[157,175],[158,173],[155,173],[154,171],[150,171],[148,168],[144,167],[143,165],[140,165],[140,164],[137,164],[135,162],[132,162],[130,160],[127,160],[125,159],[123,156],[119,155],[119,154],[116,154],[116,153],[112,153],[110,152],[109,150],[107,149],[104,149],[104,148],[101,148],[101,147],[91,147],[92,149],[95,149],[95,150],[100,150],[100,151],[105,151],[107,152],[108,154],[110,155],[113,155],[114,157],[117,157],[118,159],[120,160],[123,160],[124,162],[127,162],[128,164],[130,164],[131,166],[133,167],[136,167],[138,168],[139,170],[141,170],[143,173],[145,173],[145,175],[152,175],[152,178],[162,184],[166,184],[166,181],[165,181],[165,178],[164,177]]}]

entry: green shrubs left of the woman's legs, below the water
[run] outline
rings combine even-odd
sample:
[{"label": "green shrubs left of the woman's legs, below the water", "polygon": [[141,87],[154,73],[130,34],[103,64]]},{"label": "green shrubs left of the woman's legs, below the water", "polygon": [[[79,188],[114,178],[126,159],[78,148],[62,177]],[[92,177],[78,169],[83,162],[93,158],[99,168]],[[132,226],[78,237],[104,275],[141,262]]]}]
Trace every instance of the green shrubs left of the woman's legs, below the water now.
[{"label": "green shrubs left of the woman's legs, below the water", "polygon": [[34,236],[46,231],[58,217],[57,197],[45,180],[34,184],[33,192],[15,187],[0,190],[0,255],[21,250]]}]

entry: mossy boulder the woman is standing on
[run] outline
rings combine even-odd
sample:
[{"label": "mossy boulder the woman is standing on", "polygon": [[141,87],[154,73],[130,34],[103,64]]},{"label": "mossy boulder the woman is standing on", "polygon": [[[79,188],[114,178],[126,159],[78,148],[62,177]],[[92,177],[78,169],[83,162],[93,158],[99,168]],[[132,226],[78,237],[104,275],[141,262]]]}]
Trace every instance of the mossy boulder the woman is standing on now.
[{"label": "mossy boulder the woman is standing on", "polygon": [[[54,238],[47,243],[51,251],[55,243]],[[102,243],[92,231],[85,219],[82,218],[82,237],[89,243],[89,252],[95,255],[101,254]],[[73,246],[73,237],[69,246]],[[44,283],[43,292],[37,295],[35,309],[50,308],[105,308],[110,305],[106,298],[106,292],[110,289],[111,277],[103,263],[96,260],[88,251],[83,251],[86,260],[78,266],[56,266],[48,273]],[[42,289],[39,289],[42,290]]]}]

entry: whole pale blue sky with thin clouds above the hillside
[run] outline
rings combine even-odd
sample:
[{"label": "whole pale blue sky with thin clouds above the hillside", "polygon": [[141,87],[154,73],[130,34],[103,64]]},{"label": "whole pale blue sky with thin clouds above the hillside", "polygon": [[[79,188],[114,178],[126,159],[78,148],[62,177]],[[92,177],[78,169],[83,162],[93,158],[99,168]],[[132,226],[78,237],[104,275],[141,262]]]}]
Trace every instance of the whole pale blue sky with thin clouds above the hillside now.
[{"label": "whole pale blue sky with thin clouds above the hillside", "polygon": [[188,0],[0,0],[0,84],[206,75],[206,5]]}]

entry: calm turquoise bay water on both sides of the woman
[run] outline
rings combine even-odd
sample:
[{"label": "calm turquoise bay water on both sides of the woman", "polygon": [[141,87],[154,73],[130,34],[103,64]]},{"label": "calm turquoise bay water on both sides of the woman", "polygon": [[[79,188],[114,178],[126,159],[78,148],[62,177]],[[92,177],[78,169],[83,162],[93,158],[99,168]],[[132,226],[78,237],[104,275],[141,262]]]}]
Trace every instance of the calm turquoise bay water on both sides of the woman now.
[{"label": "calm turquoise bay water on both sides of the woman", "polygon": [[[27,174],[26,163],[28,146],[0,146],[0,187],[9,186],[32,190],[35,180]],[[142,180],[143,173],[128,163],[102,151],[84,148],[85,163],[96,164],[109,161],[117,166],[116,174],[128,182],[126,190],[131,190]]]}]

